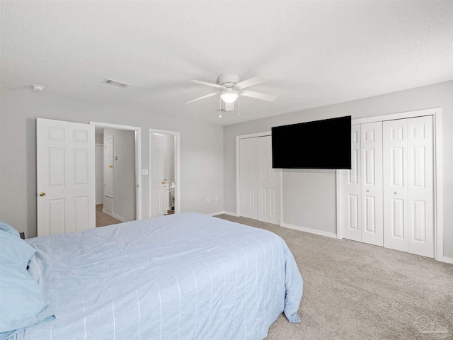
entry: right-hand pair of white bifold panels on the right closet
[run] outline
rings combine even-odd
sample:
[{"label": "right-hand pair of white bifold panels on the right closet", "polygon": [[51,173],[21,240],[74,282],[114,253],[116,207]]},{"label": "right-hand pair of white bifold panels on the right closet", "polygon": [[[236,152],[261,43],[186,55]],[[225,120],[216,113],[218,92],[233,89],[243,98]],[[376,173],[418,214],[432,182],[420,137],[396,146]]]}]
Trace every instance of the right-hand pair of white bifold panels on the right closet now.
[{"label": "right-hand pair of white bifold panels on the right closet", "polygon": [[432,116],[384,122],[384,246],[434,257]]}]

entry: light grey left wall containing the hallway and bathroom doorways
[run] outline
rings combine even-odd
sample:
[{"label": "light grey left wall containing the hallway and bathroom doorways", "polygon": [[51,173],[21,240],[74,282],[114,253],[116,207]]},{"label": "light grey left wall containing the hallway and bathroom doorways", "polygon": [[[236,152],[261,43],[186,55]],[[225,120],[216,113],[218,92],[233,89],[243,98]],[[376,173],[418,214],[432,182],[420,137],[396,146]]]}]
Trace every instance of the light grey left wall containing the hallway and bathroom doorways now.
[{"label": "light grey left wall containing the hallway and bathroom doorways", "polygon": [[[142,128],[142,168],[148,169],[149,128],[180,132],[180,208],[223,210],[223,128],[168,114],[129,111],[74,101],[50,91],[0,89],[0,220],[36,236],[36,118],[132,125]],[[7,193],[7,194],[6,194]],[[219,197],[210,203],[206,198]],[[142,176],[142,215],[148,217],[148,176]]]}]

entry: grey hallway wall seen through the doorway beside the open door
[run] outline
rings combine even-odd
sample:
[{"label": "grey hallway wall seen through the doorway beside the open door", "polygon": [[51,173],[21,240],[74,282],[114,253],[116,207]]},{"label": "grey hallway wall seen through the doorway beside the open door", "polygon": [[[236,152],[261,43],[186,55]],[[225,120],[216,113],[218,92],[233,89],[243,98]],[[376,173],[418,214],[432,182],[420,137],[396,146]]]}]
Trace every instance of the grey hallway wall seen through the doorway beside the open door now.
[{"label": "grey hallway wall seen through the doorway beside the open door", "polygon": [[[113,136],[114,215],[135,220],[135,131],[104,129],[104,138]],[[104,172],[105,173],[105,172]]]}]

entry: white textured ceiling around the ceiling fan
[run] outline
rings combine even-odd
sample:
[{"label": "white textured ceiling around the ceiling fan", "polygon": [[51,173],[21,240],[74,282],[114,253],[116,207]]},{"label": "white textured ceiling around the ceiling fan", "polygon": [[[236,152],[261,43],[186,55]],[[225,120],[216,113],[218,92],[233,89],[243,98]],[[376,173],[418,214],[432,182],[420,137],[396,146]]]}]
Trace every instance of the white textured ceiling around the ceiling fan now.
[{"label": "white textured ceiling around the ceiling fan", "polygon": [[[1,86],[229,125],[453,79],[453,1],[0,1]],[[219,118],[222,73],[263,74]],[[111,78],[127,89],[102,84]]]}]

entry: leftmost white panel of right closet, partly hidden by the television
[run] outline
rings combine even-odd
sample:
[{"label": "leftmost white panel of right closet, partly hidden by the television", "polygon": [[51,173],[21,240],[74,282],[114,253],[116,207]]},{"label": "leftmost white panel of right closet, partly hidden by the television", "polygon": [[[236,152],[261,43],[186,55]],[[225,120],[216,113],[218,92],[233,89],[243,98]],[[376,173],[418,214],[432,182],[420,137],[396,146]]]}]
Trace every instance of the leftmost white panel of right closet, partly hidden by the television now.
[{"label": "leftmost white panel of right closet, partly hidden by the television", "polygon": [[362,241],[360,211],[362,209],[360,186],[360,125],[351,127],[351,169],[341,171],[341,227],[343,237]]}]

